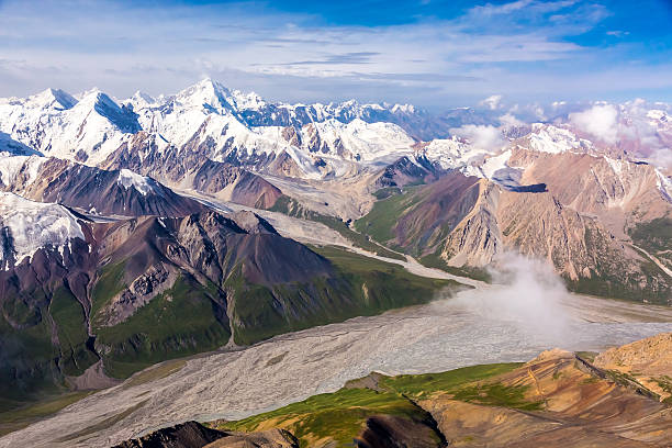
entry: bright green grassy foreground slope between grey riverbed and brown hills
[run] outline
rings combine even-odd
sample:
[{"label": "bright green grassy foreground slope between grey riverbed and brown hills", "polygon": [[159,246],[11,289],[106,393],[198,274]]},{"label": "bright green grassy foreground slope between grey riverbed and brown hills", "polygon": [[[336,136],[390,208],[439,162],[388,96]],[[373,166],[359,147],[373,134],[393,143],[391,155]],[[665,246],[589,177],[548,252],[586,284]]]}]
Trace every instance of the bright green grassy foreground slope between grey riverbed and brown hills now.
[{"label": "bright green grassy foreground slope between grey riverbed and brown hills", "polygon": [[233,430],[259,430],[281,427],[299,438],[301,447],[316,440],[334,440],[336,447],[352,446],[352,439],[363,428],[368,417],[395,415],[422,421],[425,412],[413,401],[434,394],[449,394],[457,400],[523,410],[535,410],[539,403],[523,399],[525,389],[504,387],[494,377],[519,367],[520,363],[474,366],[443,373],[382,377],[378,390],[341,389],[338,392],[312,396],[276,411],[237,422],[214,423]]}]

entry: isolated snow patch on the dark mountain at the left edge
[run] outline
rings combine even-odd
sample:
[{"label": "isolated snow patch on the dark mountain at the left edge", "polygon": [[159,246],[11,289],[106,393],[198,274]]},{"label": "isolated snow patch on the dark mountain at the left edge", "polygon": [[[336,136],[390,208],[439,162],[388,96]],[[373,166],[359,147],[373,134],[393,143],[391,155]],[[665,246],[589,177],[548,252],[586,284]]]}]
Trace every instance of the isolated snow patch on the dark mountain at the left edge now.
[{"label": "isolated snow patch on the dark mountain at the left edge", "polygon": [[86,239],[77,219],[54,203],[34,202],[14,193],[0,192],[0,268],[19,265],[43,247],[61,248],[70,239]]}]

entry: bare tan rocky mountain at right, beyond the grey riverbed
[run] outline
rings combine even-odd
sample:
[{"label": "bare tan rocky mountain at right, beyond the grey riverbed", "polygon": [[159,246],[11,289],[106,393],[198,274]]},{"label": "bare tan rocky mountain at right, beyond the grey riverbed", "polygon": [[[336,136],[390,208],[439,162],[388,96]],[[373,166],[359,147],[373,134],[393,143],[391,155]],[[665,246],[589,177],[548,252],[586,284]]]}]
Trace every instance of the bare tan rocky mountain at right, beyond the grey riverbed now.
[{"label": "bare tan rocky mountain at right, beyond the grey riverbed", "polygon": [[[564,155],[552,157],[565,158]],[[589,172],[594,179],[598,167],[595,164],[604,160],[582,155],[571,157],[589,157],[593,164],[585,170],[585,179],[590,178]],[[567,169],[561,160],[540,166],[558,166],[558,172]],[[641,166],[641,169],[649,167]],[[527,192],[520,188],[512,191],[453,171],[427,186],[405,188],[378,201],[356,226],[382,244],[445,269],[483,268],[496,262],[506,250],[516,250],[548,260],[578,291],[669,303],[672,278],[623,239],[627,238],[623,226],[619,227],[621,238],[616,239],[618,227],[614,224],[616,221],[608,220],[611,210],[604,200],[603,183],[582,184],[581,172],[573,177],[559,175],[558,179],[563,182],[549,175],[533,176],[527,171],[522,179],[548,181],[548,191]],[[600,186],[601,194],[594,193],[594,184]],[[620,225],[626,220],[637,222],[667,213],[670,204],[652,187],[628,190],[631,203],[645,206],[647,214],[619,211]],[[578,191],[570,194],[571,189]],[[568,197],[571,205],[562,202]],[[581,205],[578,197],[584,201],[583,213],[572,208]]]}]

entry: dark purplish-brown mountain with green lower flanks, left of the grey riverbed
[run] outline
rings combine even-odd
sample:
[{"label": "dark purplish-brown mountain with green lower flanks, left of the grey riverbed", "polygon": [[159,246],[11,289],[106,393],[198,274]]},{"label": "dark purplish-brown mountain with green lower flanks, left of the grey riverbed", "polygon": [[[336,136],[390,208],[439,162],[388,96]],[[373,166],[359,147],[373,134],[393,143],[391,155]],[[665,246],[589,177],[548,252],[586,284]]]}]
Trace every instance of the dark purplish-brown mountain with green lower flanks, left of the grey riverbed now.
[{"label": "dark purplish-brown mountain with green lower flanks, left of the grey riverbed", "polygon": [[[57,233],[0,271],[4,399],[54,389],[99,360],[124,378],[231,336],[253,344],[423,303],[453,285],[338,250],[325,258],[248,212],[94,223],[59,210],[77,232]],[[53,216],[31,225],[44,228]],[[19,231],[30,234],[18,228],[5,247],[25,237]]]}]

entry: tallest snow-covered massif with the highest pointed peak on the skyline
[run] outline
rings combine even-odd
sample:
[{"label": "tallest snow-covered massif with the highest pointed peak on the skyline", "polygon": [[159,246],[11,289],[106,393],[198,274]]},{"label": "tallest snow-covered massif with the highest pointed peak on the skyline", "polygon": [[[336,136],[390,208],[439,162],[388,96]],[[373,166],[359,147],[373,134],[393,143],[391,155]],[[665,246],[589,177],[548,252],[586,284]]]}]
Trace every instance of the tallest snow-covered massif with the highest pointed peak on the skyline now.
[{"label": "tallest snow-covered massif with the highest pointed peak on the skyline", "polygon": [[[393,123],[368,123],[359,117],[339,121],[336,116],[344,105],[317,104],[305,112],[303,105],[269,104],[254,93],[231,91],[210,79],[163,101],[136,94],[127,104],[137,113],[142,128],[160,137],[158,150],[188,146],[213,160],[256,170],[284,155],[296,172],[309,178],[339,172],[340,160],[372,163],[410,153],[414,143]],[[361,112],[358,104],[350,107]]]}]

